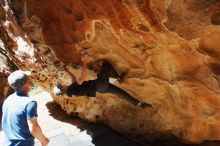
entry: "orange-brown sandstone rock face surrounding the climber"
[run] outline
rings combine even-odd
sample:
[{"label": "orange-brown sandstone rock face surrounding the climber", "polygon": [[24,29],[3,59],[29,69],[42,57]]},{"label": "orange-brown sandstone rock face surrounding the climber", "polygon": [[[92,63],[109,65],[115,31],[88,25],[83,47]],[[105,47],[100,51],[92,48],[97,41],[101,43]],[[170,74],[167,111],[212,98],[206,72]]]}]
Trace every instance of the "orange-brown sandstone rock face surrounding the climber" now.
[{"label": "orange-brown sandstone rock face surrounding the climber", "polygon": [[51,91],[110,62],[115,83],[153,108],[113,94],[56,97],[69,114],[138,138],[220,140],[220,2],[216,0],[1,0],[1,40],[14,63]]}]

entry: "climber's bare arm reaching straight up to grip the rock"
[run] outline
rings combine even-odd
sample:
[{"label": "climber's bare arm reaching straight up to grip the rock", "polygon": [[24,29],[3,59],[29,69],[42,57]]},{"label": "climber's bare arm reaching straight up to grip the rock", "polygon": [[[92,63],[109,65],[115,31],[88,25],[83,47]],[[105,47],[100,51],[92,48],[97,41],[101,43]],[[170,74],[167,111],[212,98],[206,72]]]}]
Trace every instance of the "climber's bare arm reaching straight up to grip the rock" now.
[{"label": "climber's bare arm reaching straight up to grip the rock", "polygon": [[82,73],[81,73],[81,76],[76,79],[76,82],[81,85],[85,80],[86,80],[86,77],[87,77],[87,64],[88,64],[88,56],[86,55],[83,55],[81,57],[82,59],[82,63],[83,63],[83,69],[82,69]]}]

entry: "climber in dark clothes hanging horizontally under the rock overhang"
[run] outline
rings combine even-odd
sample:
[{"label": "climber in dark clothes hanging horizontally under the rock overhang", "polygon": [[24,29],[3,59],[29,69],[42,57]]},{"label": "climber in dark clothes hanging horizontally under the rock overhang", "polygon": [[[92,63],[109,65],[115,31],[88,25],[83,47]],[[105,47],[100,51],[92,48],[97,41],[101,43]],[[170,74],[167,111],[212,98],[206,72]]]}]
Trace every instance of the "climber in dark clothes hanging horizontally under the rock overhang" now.
[{"label": "climber in dark clothes hanging horizontally under the rock overhang", "polygon": [[130,94],[128,94],[123,89],[109,83],[110,75],[119,75],[113,69],[110,63],[104,61],[101,67],[101,71],[97,75],[97,79],[85,81],[87,77],[87,63],[88,57],[83,55],[82,56],[82,63],[83,69],[82,74],[75,82],[73,82],[70,86],[63,86],[61,84],[57,84],[54,87],[54,93],[57,96],[61,96],[62,94],[66,93],[67,96],[88,96],[88,97],[95,97],[96,92],[99,93],[112,93],[116,94],[120,97],[123,97],[125,100],[130,102],[135,106],[140,106],[142,108],[149,108],[152,107],[151,104],[140,102]]}]

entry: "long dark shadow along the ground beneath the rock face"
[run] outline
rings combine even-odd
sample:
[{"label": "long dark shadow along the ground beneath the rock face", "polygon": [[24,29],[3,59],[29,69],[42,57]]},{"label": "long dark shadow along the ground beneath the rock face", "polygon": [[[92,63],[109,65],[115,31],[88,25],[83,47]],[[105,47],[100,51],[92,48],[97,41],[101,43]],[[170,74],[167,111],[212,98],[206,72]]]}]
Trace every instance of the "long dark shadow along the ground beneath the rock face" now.
[{"label": "long dark shadow along the ground beneath the rock face", "polygon": [[88,123],[77,117],[72,117],[66,114],[66,112],[55,102],[48,102],[46,106],[54,119],[75,125],[81,130],[87,130],[95,146],[220,146],[220,141],[207,141],[198,145],[190,145],[181,143],[178,140],[157,140],[151,143],[142,144],[119,134],[107,126]]}]

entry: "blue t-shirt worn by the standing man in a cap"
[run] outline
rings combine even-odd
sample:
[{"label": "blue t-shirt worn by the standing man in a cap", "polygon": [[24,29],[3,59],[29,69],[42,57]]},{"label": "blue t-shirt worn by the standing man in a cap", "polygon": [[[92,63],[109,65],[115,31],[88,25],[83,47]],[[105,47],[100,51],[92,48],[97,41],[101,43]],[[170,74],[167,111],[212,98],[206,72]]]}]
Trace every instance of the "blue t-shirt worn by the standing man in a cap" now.
[{"label": "blue t-shirt worn by the standing man in a cap", "polygon": [[36,101],[20,93],[10,95],[2,106],[2,129],[6,135],[6,145],[32,146],[34,137],[27,120],[37,116]]}]

